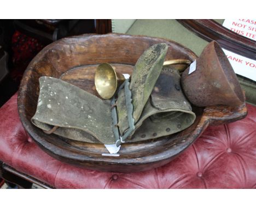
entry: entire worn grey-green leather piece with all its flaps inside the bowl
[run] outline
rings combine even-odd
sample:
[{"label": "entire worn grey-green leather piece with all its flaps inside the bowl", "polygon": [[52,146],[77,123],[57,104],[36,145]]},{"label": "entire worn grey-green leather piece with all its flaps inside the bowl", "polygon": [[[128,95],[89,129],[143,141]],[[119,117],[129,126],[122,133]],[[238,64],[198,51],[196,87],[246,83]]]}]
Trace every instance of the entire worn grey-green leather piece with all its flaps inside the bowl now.
[{"label": "entire worn grey-green leather piece with all its flaps inside the bowl", "polygon": [[[167,44],[149,47],[132,72],[135,135],[129,142],[167,136],[194,123],[196,116],[183,94],[179,72],[170,66],[162,67],[167,50]],[[53,77],[40,77],[39,83],[37,110],[32,118],[34,125],[46,131],[57,126],[53,133],[82,142],[115,144],[119,139],[114,138],[109,100],[101,100]],[[118,95],[117,112],[123,135],[129,127],[124,89]]]}]

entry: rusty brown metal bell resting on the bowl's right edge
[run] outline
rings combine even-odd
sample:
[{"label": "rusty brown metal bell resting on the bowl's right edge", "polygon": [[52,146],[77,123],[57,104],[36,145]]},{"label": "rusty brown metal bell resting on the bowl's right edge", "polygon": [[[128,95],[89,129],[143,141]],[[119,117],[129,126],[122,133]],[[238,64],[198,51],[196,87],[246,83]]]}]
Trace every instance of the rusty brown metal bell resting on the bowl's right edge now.
[{"label": "rusty brown metal bell resting on the bowl's right edge", "polygon": [[181,82],[195,106],[238,106],[245,102],[236,74],[216,41],[210,42],[196,63],[183,72]]}]

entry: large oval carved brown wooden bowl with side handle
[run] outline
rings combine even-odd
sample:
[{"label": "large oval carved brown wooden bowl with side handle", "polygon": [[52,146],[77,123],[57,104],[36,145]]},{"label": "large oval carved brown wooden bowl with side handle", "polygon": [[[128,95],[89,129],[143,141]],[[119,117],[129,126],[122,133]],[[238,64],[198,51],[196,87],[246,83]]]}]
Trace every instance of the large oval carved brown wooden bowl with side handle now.
[{"label": "large oval carved brown wooden bowl with side handle", "polygon": [[109,172],[138,172],[162,166],[184,151],[209,124],[223,124],[246,116],[245,103],[238,107],[193,107],[196,121],[188,129],[158,139],[121,146],[119,157],[108,153],[102,144],[77,142],[45,134],[31,123],[39,95],[39,77],[52,76],[97,96],[94,73],[98,64],[112,64],[118,72],[131,74],[133,66],[148,47],[168,44],[166,60],[189,59],[196,55],[176,42],[122,34],[81,35],[61,39],[46,46],[25,71],[19,89],[18,109],[22,124],[36,143],[51,156],[75,166]]}]

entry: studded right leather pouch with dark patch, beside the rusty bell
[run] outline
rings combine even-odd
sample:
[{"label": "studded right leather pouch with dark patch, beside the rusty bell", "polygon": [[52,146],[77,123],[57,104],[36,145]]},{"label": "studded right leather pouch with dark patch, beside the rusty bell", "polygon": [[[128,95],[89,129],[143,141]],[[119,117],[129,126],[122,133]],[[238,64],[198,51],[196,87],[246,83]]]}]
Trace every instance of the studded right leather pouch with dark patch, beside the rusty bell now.
[{"label": "studded right leather pouch with dark patch, beside the rusty bell", "polygon": [[164,66],[147,101],[131,142],[167,136],[194,123],[195,113],[191,111],[180,84],[179,72],[171,66]]}]

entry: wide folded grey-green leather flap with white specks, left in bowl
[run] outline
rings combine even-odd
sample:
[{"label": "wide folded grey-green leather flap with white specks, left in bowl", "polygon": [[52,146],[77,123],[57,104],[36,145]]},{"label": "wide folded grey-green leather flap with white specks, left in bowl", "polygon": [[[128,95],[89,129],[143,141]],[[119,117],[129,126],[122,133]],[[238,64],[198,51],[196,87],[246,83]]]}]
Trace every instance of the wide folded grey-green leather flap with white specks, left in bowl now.
[{"label": "wide folded grey-green leather flap with white specks, left in bowl", "polygon": [[83,142],[115,142],[109,100],[101,100],[61,79],[40,77],[39,82],[34,125],[46,131],[59,126],[55,134]]}]

